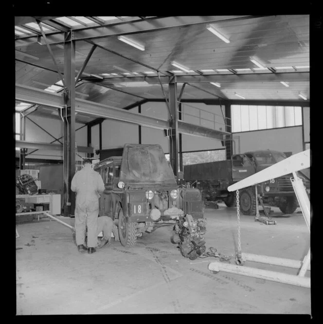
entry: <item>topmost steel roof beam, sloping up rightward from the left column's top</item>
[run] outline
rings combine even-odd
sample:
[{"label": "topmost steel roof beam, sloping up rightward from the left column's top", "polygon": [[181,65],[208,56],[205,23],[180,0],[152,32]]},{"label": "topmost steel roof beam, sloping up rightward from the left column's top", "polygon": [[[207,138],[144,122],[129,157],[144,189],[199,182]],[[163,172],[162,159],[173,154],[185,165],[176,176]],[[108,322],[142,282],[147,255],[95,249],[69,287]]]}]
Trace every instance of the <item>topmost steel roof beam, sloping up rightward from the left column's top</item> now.
[{"label": "topmost steel roof beam, sloping up rightward from the left column's top", "polygon": [[[214,22],[236,21],[242,19],[254,19],[266,16],[174,16],[174,17],[153,17],[132,21],[118,22],[107,26],[93,26],[90,28],[72,28],[74,40],[89,40],[97,38],[116,37],[121,35],[140,34],[146,32],[160,31],[169,28],[179,28],[198,24]],[[44,21],[46,23],[46,21]],[[54,26],[53,26],[54,27]],[[50,44],[63,44],[64,33],[46,35]],[[16,40],[16,46],[24,46],[37,42],[37,37],[23,37]],[[44,43],[44,39],[40,38]]]}]

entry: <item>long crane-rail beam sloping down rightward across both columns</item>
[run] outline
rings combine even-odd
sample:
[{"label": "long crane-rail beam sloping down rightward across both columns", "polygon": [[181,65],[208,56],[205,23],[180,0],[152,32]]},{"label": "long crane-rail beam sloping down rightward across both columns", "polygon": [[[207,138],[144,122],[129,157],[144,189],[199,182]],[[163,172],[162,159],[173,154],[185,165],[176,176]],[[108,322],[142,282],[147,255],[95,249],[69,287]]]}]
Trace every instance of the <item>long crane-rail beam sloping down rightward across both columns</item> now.
[{"label": "long crane-rail beam sloping down rightward across both columns", "polygon": [[[23,102],[37,103],[52,108],[62,107],[61,95],[22,86],[20,84],[16,84],[16,99]],[[114,108],[78,98],[75,99],[75,112],[96,117],[115,119],[155,129],[163,130],[169,128],[169,123],[166,120],[145,116],[143,114],[132,113],[124,109]],[[223,139],[223,134],[229,134],[227,132],[216,131],[198,125],[191,125],[183,121],[179,121],[179,132],[202,137],[206,136],[220,140]]]}]

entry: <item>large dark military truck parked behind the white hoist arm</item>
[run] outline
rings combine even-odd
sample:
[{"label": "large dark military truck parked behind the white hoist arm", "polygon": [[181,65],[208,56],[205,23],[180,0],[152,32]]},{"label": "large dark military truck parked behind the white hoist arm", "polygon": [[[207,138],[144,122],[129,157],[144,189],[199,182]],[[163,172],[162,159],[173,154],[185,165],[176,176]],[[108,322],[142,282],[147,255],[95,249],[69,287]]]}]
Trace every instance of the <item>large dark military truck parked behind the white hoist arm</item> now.
[{"label": "large dark military truck parked behind the white hoist arm", "polygon": [[[236,204],[235,192],[227,188],[251,174],[264,170],[269,166],[282,161],[287,156],[283,152],[272,150],[246,152],[234,154],[231,160],[200,163],[184,166],[185,181],[194,184],[202,191],[205,200],[223,200],[226,206]],[[305,172],[298,172],[309,191],[309,177]],[[257,185],[257,192],[264,203],[279,207],[283,213],[292,213],[298,206],[288,174]],[[245,215],[255,215],[256,197],[255,187],[240,190],[240,210]]]}]

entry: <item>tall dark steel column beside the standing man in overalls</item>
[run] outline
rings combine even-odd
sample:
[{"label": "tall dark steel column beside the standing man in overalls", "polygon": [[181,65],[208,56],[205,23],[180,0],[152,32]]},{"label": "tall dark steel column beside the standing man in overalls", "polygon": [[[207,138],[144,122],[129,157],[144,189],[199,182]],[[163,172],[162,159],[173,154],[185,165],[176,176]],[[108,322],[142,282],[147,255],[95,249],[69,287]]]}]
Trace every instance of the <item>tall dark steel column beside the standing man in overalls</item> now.
[{"label": "tall dark steel column beside the standing man in overalls", "polygon": [[[68,35],[65,34],[65,37]],[[75,41],[65,42],[64,61],[64,216],[74,215],[75,193],[71,190],[72,177],[75,174]]]}]

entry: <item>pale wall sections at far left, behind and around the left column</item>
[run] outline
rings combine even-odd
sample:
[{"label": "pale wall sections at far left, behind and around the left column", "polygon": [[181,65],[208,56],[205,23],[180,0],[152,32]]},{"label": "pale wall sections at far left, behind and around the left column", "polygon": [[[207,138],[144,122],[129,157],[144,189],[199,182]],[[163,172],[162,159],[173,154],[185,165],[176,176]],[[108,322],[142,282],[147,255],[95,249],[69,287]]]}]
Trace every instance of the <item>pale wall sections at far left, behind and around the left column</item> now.
[{"label": "pale wall sections at far left, behind and around the left column", "polygon": [[[51,133],[54,137],[59,138],[63,135],[63,122],[60,120],[45,118],[30,114],[28,116],[31,120],[35,121],[39,126]],[[75,129],[81,127],[82,124],[75,124]],[[40,129],[32,121],[26,118],[26,141],[31,142],[42,142],[51,143],[54,138]],[[75,141],[78,146],[87,146],[87,127],[84,127],[75,133]],[[55,144],[59,144],[55,142]],[[28,152],[34,150],[28,149]],[[85,153],[78,153],[85,157]],[[60,151],[49,151],[49,150],[38,150],[34,154],[27,155],[27,158],[38,158],[38,159],[53,159],[61,160],[62,152]],[[80,157],[77,157],[80,159]]]}]

